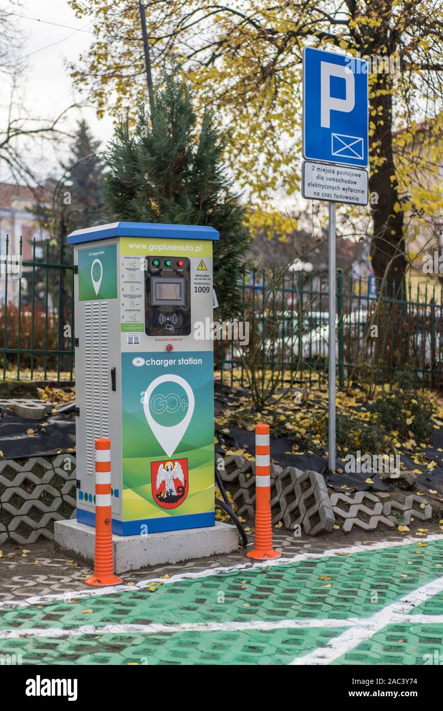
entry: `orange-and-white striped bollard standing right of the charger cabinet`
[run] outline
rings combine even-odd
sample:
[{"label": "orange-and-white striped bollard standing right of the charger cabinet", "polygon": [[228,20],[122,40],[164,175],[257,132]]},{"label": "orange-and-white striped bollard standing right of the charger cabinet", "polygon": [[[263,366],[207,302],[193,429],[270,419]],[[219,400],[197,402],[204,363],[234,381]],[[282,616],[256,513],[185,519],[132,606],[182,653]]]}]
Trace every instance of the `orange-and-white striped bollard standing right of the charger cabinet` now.
[{"label": "orange-and-white striped bollard standing right of the charger cabinet", "polygon": [[255,542],[246,555],[255,560],[279,558],[282,554],[272,547],[271,522],[271,462],[269,424],[255,425]]}]

